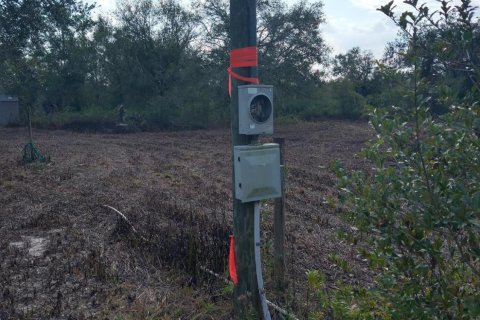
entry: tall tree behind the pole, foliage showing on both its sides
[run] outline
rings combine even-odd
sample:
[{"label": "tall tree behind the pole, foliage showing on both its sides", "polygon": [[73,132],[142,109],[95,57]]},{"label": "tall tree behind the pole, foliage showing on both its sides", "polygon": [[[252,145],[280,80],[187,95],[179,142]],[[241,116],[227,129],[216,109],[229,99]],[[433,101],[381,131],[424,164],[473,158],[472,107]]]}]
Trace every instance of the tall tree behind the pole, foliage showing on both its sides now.
[{"label": "tall tree behind the pole, foliage showing on both its sides", "polygon": [[[230,50],[229,2],[207,0],[197,8],[209,65],[221,76],[215,78],[216,83],[226,92],[223,71]],[[323,4],[301,1],[287,6],[280,0],[258,1],[257,17],[260,81],[274,85],[278,115],[302,116],[315,105],[312,95],[320,83],[318,70],[327,63],[329,49],[320,32],[325,22]]]}]

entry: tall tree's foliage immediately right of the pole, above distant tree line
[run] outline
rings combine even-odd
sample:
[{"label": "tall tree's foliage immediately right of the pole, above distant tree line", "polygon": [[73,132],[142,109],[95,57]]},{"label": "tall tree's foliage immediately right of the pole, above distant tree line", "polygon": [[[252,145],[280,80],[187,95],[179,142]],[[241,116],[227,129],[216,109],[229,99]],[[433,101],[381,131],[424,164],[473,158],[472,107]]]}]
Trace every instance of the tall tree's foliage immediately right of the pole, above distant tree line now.
[{"label": "tall tree's foliage immediately right of the pole, above distant tree line", "polygon": [[303,115],[315,105],[311,97],[329,50],[319,29],[325,21],[322,9],[320,1],[290,8],[279,1],[259,2],[260,77],[274,85],[279,115]]}]

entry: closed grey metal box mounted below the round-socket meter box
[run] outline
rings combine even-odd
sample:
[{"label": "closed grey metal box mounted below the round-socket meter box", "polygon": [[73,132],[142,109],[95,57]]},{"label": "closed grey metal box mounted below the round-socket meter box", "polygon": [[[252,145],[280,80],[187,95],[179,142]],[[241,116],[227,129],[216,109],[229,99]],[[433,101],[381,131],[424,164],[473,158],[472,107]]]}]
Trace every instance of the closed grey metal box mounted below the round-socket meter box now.
[{"label": "closed grey metal box mounted below the round-socket meter box", "polygon": [[233,156],[236,199],[252,202],[282,196],[278,144],[235,146]]}]

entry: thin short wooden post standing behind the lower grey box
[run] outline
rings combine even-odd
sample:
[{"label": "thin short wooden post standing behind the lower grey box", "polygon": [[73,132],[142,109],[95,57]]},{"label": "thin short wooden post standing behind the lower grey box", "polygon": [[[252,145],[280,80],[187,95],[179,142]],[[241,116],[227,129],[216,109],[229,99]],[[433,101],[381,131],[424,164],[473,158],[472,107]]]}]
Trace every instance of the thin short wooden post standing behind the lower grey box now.
[{"label": "thin short wooden post standing behind the lower grey box", "polygon": [[274,265],[273,276],[277,292],[285,292],[285,139],[275,138],[274,143],[280,145],[280,165],[282,197],[275,199],[273,231],[274,231]]}]

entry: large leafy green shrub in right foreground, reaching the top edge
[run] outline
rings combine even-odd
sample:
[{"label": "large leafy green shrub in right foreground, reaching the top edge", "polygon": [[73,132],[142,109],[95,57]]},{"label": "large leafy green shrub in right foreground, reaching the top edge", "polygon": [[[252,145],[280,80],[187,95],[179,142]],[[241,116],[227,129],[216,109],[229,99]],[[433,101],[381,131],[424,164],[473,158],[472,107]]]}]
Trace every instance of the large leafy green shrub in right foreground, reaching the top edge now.
[{"label": "large leafy green shrub in right foreground, reaching the top edge", "polygon": [[[430,72],[424,71],[425,52],[417,44],[423,43],[419,35],[432,30],[437,30],[439,39],[445,30],[470,39],[478,22],[473,22],[470,1],[462,0],[451,10],[442,1],[440,14],[432,14],[418,1],[405,2],[413,10],[399,18],[392,11],[393,1],[380,10],[406,32],[411,48],[407,107],[372,110],[370,124],[377,138],[362,153],[372,163],[372,172],[347,172],[334,165],[348,208],[346,217],[358,228],[355,236],[366,236],[369,249],[362,252],[376,270],[377,282],[375,288],[359,291],[353,298],[336,295],[344,307],[330,311],[355,319],[478,319],[480,107],[476,76],[480,64],[463,46],[448,57],[443,46],[429,49],[438,63],[456,66],[468,88],[463,95],[453,93],[449,99],[455,104],[437,116],[429,107],[443,83],[432,81]],[[442,81],[447,81],[450,71],[444,72]],[[377,303],[365,309],[372,300]]]}]

